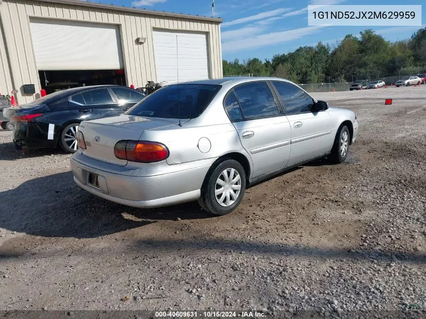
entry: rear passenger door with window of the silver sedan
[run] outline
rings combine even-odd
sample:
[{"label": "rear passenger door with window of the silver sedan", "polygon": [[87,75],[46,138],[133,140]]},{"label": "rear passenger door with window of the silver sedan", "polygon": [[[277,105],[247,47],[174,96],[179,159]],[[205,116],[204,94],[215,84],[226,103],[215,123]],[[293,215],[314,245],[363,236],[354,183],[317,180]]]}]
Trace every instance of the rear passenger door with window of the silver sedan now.
[{"label": "rear passenger door with window of the silver sedan", "polygon": [[283,168],[290,156],[290,125],[265,81],[234,87],[225,110],[253,162],[252,177]]}]

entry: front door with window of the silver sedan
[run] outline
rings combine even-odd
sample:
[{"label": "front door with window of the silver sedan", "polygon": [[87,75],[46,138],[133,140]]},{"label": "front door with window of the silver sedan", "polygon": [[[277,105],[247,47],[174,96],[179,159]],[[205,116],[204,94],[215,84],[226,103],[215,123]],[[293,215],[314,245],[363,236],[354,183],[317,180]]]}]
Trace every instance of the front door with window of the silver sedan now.
[{"label": "front door with window of the silver sedan", "polygon": [[331,117],[328,111],[315,111],[315,100],[298,86],[271,81],[276,89],[291,127],[288,165],[314,158],[331,150]]}]

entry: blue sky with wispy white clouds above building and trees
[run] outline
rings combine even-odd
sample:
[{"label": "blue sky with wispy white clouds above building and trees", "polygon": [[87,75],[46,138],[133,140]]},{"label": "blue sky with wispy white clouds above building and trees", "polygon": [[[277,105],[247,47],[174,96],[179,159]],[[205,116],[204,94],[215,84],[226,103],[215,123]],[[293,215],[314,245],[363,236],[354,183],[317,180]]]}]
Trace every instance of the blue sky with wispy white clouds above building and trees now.
[{"label": "blue sky with wispy white clouds above building and trees", "polygon": [[[211,0],[101,0],[140,9],[211,16]],[[408,0],[405,5],[421,2]],[[346,34],[359,36],[365,29],[373,29],[387,40],[411,37],[426,27],[426,6],[422,6],[422,26],[308,26],[308,5],[353,5],[349,0],[215,0],[215,17],[221,24],[222,57],[240,61],[259,57],[270,59],[275,54],[294,51],[299,46],[315,46],[319,41],[331,46]],[[356,5],[401,5],[398,0],[358,0]]]}]

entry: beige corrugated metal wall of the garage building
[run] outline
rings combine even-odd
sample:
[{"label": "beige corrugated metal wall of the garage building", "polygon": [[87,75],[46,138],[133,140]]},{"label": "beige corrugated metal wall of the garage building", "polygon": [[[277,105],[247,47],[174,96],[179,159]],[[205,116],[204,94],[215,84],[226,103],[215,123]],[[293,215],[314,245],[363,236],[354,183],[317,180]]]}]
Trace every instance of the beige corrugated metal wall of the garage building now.
[{"label": "beige corrugated metal wall of the garage building", "polygon": [[[36,94],[40,92],[40,80],[32,49],[29,19],[32,17],[112,23],[120,26],[126,80],[135,87],[145,86],[156,80],[152,30],[194,30],[206,32],[209,46],[210,77],[222,77],[222,50],[220,25],[216,21],[192,20],[186,17],[154,16],[141,13],[71,6],[28,0],[4,0],[0,4],[0,17],[4,28],[6,47],[9,51],[12,79],[8,75],[5,44],[0,44],[0,93],[3,86],[11,91],[20,90],[18,103],[27,103],[36,95],[25,96],[23,84],[34,84]],[[48,36],[48,35],[46,35]],[[135,44],[137,37],[146,37],[144,44]],[[102,58],[102,57],[99,57]],[[77,68],[78,69],[78,68]],[[6,70],[6,71],[5,71]]]}]

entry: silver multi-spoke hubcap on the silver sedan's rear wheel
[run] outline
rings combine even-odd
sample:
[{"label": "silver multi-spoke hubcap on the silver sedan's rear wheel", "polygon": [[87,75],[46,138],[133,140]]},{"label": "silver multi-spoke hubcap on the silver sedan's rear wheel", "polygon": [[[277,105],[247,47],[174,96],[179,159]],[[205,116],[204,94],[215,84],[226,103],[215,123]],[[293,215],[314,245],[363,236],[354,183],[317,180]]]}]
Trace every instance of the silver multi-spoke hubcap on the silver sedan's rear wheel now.
[{"label": "silver multi-spoke hubcap on the silver sedan's rear wheel", "polygon": [[241,177],[234,168],[227,168],[216,180],[214,196],[220,206],[228,207],[235,203],[241,192]]}]

